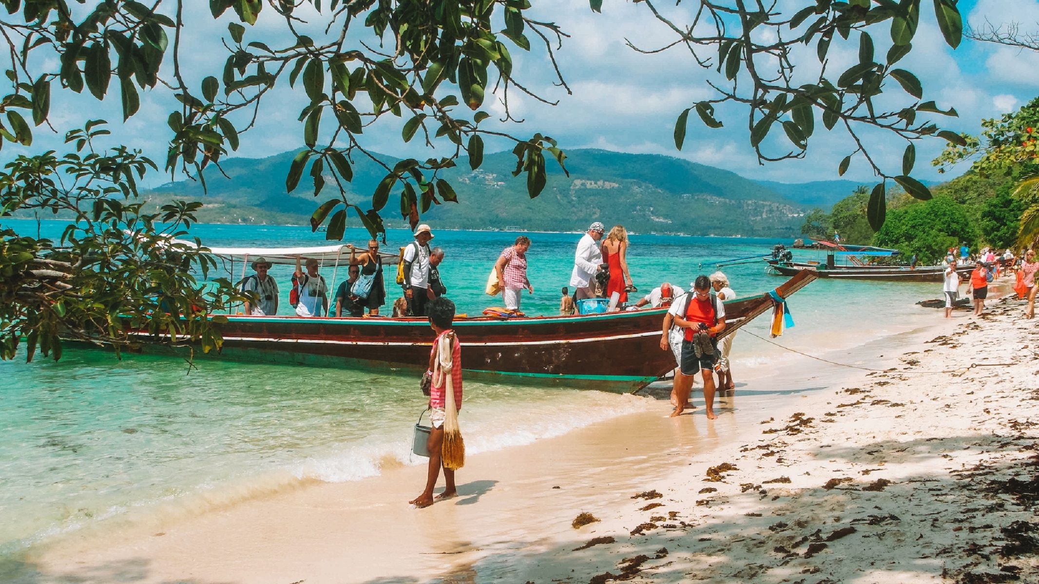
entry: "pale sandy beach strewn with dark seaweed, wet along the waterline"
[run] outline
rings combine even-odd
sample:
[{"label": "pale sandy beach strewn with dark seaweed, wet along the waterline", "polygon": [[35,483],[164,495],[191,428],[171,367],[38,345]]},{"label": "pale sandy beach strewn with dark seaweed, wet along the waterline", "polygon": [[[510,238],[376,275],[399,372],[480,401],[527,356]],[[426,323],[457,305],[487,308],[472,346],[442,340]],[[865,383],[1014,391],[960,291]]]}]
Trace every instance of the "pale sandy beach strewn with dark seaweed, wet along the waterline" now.
[{"label": "pale sandy beach strewn with dark seaweed, wet along the waterline", "polygon": [[[473,455],[460,496],[428,509],[406,504],[424,467],[385,469],[74,534],[36,550],[19,580],[1029,581],[1035,556],[1014,555],[1028,546],[1004,548],[1028,544],[1031,524],[1013,522],[1033,521],[1039,500],[1006,486],[1036,472],[1022,465],[1039,334],[1017,304],[981,319],[934,310],[933,327],[840,359],[883,372],[791,359],[722,399],[713,422],[697,391],[692,415],[667,419],[662,399],[659,413]],[[601,521],[575,529],[581,512]]]}]

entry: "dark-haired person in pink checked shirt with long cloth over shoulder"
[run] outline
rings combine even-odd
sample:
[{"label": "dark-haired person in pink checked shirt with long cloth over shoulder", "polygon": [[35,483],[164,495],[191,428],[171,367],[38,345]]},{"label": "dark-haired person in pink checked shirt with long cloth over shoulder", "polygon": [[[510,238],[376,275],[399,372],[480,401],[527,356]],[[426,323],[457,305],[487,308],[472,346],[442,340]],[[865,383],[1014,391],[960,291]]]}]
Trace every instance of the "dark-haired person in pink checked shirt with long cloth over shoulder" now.
[{"label": "dark-haired person in pink checked shirt with long cloth over shoulder", "polygon": [[[452,338],[451,342],[451,385],[454,388],[454,401],[456,410],[461,410],[461,345],[458,343],[458,337],[455,335],[454,330],[451,329],[451,324],[454,322],[455,307],[454,303],[450,300],[441,297],[435,300],[431,300],[428,305],[426,305],[426,311],[429,313],[429,327],[433,329],[436,333],[436,340],[433,341],[433,350],[429,359],[429,373],[432,373],[433,362],[436,359],[435,351],[438,344],[441,336],[445,334],[450,334]],[[426,442],[426,447],[429,449],[429,472],[426,475],[426,490],[422,492],[415,499],[408,501],[416,507],[420,509],[423,507],[428,507],[436,501],[444,499],[450,499],[456,496],[458,493],[455,491],[454,482],[454,471],[448,468],[444,469],[444,478],[447,480],[447,488],[444,493],[441,493],[435,498],[433,497],[433,488],[436,486],[436,479],[441,475],[442,462],[442,448],[444,446],[444,421],[446,419],[446,414],[444,409],[447,407],[447,380],[442,380],[439,386],[437,387],[436,377],[433,377],[433,383],[430,384],[429,388],[429,408],[432,412],[429,414],[429,421],[432,422],[432,429],[429,433],[429,441]]]}]

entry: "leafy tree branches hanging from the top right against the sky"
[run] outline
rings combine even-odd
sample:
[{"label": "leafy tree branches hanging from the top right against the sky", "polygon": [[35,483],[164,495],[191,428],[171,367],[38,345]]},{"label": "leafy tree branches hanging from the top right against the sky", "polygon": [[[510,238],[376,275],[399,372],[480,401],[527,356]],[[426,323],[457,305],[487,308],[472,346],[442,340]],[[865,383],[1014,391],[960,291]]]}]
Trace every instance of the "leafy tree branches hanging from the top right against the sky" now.
[{"label": "leafy tree branches hanging from the top right against the sky", "polygon": [[[912,50],[921,21],[921,0],[816,0],[802,3],[803,7],[794,13],[777,9],[774,1],[700,0],[688,24],[667,18],[652,0],[644,3],[671,29],[675,39],[663,48],[636,50],[652,53],[684,47],[700,67],[718,74],[716,79],[709,79],[718,96],[699,101],[678,116],[674,143],[680,149],[690,112],[695,110],[709,128],[720,128],[723,120],[717,119],[716,106],[735,103],[745,106],[750,145],[760,162],[802,158],[819,117],[826,130],[840,127],[855,143],[855,148],[841,161],[838,174],[848,170],[853,158],[861,156],[883,178],[873,189],[869,204],[870,223],[879,229],[884,221],[888,179],[918,199],[932,196],[926,186],[910,176],[916,159],[915,142],[933,136],[964,144],[959,134],[942,130],[925,117],[956,116],[956,110],[924,101],[924,88],[916,76],[898,66]],[[929,4],[945,43],[955,49],[963,29],[956,0],[933,0]],[[840,43],[837,37],[857,41],[858,62],[834,73],[827,71],[827,56],[832,43]],[[890,47],[880,55],[877,44],[886,44],[884,37],[889,38]],[[803,46],[815,46],[819,59],[819,66],[807,75],[798,67],[809,65],[796,63],[793,57]],[[890,103],[893,89],[903,101],[905,94],[911,99],[899,109],[881,109],[880,95],[884,94],[885,104]],[[785,140],[766,141],[771,132],[780,128]],[[901,167],[884,168],[874,159],[861,137],[868,128],[905,140]]]}]

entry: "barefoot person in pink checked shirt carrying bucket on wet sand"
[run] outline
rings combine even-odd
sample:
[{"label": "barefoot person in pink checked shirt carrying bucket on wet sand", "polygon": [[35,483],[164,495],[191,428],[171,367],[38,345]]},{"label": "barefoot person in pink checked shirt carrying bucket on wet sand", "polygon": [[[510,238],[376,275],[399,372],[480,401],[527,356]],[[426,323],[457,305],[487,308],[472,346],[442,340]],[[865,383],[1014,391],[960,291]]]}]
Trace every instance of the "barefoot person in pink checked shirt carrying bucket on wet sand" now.
[{"label": "barefoot person in pink checked shirt carrying bucket on wet sand", "polygon": [[[451,456],[446,456],[444,452],[447,433],[453,432],[454,435],[457,435],[447,437],[449,446],[451,446],[452,440],[457,440],[459,446],[461,442],[461,436],[457,430],[457,413],[461,410],[462,393],[461,345],[451,328],[455,316],[455,306],[450,300],[441,297],[431,300],[426,306],[426,311],[429,314],[429,326],[436,333],[436,340],[433,341],[433,349],[429,357],[429,370],[427,371],[432,376],[429,389],[429,408],[431,410],[429,420],[433,427],[429,433],[429,441],[426,443],[429,449],[429,472],[426,475],[425,491],[409,501],[420,509],[432,505],[435,501],[450,499],[457,495],[454,469],[461,466],[461,461],[452,461]],[[450,347],[450,358],[441,354],[441,351],[448,351],[448,347]],[[453,407],[454,412],[448,412],[449,407]],[[464,450],[462,450],[461,456],[464,456],[463,452]],[[447,454],[452,454],[452,452]],[[444,493],[434,498],[433,488],[436,486],[442,466],[447,486]]]}]

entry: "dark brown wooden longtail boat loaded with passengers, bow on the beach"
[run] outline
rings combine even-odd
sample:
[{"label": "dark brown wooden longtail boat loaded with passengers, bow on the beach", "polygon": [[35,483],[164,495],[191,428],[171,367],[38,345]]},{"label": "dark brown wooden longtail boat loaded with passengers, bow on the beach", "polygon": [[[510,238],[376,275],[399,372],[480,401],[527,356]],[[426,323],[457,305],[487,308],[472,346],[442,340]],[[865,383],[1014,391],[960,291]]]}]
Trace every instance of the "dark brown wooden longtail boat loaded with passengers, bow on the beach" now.
[{"label": "dark brown wooden longtail boat loaded with passengers, bow on the beach", "polygon": [[[789,298],[815,278],[811,271],[799,272],[774,293]],[[773,306],[768,294],[725,302],[721,335]],[[628,392],[675,366],[671,352],[660,349],[665,312],[658,308],[582,316],[459,318],[454,329],[470,379],[502,382],[511,377]],[[210,355],[215,358],[416,373],[425,370],[434,336],[426,318],[232,315],[219,328],[223,347]]]}]

